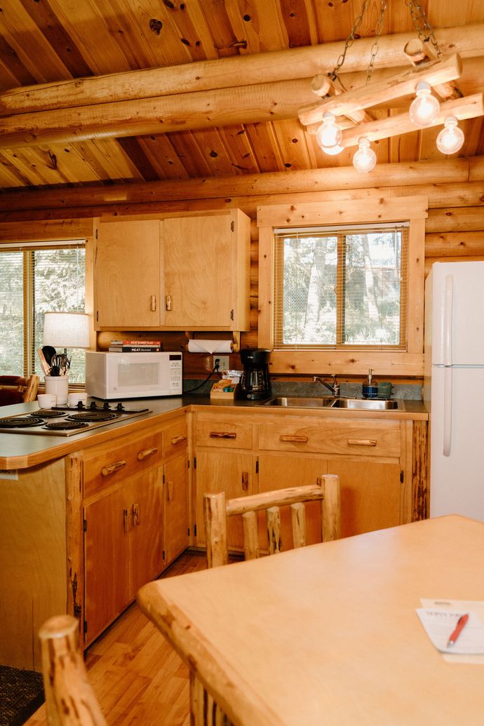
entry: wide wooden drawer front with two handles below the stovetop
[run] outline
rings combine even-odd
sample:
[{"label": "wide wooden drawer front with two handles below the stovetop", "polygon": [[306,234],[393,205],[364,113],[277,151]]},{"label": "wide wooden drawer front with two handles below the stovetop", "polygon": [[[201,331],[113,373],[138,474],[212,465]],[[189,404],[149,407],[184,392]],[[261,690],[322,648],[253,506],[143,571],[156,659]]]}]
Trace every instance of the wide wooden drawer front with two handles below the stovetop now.
[{"label": "wide wooden drawer front with two handles below the stovetop", "polygon": [[83,457],[84,497],[162,461],[161,431],[144,436],[123,436],[118,444],[109,442],[86,449]]}]

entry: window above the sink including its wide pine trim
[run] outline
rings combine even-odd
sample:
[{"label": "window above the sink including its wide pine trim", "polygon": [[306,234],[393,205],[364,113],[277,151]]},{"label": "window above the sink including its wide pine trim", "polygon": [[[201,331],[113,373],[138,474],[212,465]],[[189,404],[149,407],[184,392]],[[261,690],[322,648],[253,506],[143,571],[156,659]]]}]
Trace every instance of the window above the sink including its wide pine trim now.
[{"label": "window above the sink including its wide pine trim", "polygon": [[258,346],[274,374],[421,376],[427,197],[347,193],[258,208]]}]

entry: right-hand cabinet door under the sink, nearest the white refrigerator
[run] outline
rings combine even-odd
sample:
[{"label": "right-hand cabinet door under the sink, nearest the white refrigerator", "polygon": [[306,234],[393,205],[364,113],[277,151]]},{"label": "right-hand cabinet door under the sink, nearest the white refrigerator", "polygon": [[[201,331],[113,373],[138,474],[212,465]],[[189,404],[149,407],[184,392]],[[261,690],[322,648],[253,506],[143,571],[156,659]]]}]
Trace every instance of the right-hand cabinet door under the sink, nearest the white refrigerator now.
[{"label": "right-hand cabinet door under the sink, nearest the white refrigerator", "polygon": [[397,462],[328,461],[328,473],[340,477],[342,537],[400,524],[400,469]]}]

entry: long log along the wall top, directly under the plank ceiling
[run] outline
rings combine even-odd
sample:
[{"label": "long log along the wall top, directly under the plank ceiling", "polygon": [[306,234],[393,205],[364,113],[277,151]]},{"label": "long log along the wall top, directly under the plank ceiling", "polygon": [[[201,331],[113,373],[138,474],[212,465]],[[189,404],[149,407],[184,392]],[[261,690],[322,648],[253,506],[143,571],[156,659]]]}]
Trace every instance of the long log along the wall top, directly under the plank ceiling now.
[{"label": "long log along the wall top, directly under the plank ceiling", "polygon": [[[335,192],[348,189],[382,189],[422,184],[467,184],[484,180],[484,156],[409,163],[378,164],[372,174],[360,174],[353,166],[310,171],[247,174],[245,176],[152,181],[109,186],[69,187],[62,189],[25,189],[0,194],[0,219],[17,219],[28,211],[41,211],[52,219],[96,216],[105,208],[130,213],[147,213],[150,205],[166,205],[165,211],[183,211],[186,200],[231,200],[234,197],[261,197],[303,192]],[[378,193],[378,192],[377,192]],[[469,192],[470,193],[470,192]],[[463,194],[463,198],[465,195]],[[484,200],[484,187],[478,195]],[[66,210],[68,213],[66,213]],[[89,210],[89,211],[87,211]],[[155,211],[153,209],[152,211]],[[113,212],[114,213],[114,212]],[[30,217],[31,219],[31,217]]]}]

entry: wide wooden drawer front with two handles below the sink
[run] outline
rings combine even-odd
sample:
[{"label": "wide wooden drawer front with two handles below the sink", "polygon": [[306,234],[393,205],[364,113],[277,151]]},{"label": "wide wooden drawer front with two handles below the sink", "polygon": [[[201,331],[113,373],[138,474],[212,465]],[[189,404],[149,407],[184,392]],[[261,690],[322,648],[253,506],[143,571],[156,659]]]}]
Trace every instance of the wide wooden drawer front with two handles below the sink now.
[{"label": "wide wooden drawer front with two handles below the sink", "polygon": [[400,425],[393,421],[300,420],[261,424],[259,449],[320,454],[399,457]]}]

